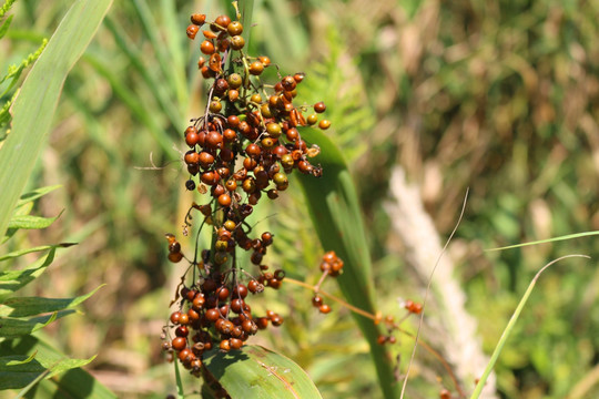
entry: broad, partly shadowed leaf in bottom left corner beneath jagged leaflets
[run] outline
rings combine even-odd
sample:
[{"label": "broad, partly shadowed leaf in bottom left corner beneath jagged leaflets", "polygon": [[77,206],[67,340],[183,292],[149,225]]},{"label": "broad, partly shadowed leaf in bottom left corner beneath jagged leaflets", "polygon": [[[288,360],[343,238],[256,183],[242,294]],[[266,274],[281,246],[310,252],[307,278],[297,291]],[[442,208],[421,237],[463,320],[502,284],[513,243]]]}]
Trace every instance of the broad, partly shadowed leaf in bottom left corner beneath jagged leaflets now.
[{"label": "broad, partly shadowed leaf in bottom left corner beneath jagged leaflets", "polygon": [[[35,361],[38,361],[42,367],[47,367],[47,370],[50,370],[50,372],[47,376],[43,376],[43,378],[54,376],[54,378],[41,382],[42,385],[45,385],[44,388],[50,388],[50,390],[54,393],[54,396],[52,396],[53,398],[116,398],[114,393],[95,380],[89,372],[79,368],[92,361],[94,357],[82,360],[68,359],[63,354],[52,348],[43,340],[32,336],[24,336],[18,339],[0,342],[0,352],[6,356],[18,355],[21,357],[23,354],[35,354]],[[14,387],[14,389],[20,389],[34,381],[37,377],[42,375],[42,372],[43,371],[40,372],[38,370],[37,372],[31,372],[29,376],[26,374],[14,374],[8,378],[11,380],[19,379],[20,386]],[[59,372],[63,374],[61,376],[57,376]],[[0,371],[0,390],[6,389],[3,386],[3,371]]]}]

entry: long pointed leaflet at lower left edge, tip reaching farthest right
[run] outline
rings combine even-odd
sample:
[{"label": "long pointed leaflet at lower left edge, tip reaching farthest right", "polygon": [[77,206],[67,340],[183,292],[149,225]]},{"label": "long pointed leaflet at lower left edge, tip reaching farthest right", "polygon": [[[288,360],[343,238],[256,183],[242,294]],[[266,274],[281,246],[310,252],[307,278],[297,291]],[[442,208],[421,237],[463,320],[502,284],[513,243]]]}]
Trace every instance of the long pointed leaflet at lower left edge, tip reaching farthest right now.
[{"label": "long pointed leaflet at lower left edge, tip reaching farthest right", "polygon": [[104,285],[101,285],[91,293],[74,298],[9,298],[4,301],[3,306],[0,306],[0,317],[28,317],[50,311],[71,309],[94,295]]}]

